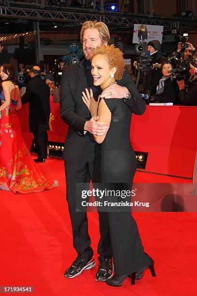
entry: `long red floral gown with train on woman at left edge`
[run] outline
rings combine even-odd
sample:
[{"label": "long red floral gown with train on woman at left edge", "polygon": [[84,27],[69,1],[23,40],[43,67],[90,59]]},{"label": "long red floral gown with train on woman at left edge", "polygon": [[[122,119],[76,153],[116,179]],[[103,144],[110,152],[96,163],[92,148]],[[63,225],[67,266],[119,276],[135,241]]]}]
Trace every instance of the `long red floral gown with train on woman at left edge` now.
[{"label": "long red floral gown with train on woman at left edge", "polygon": [[[1,104],[5,101],[3,91]],[[42,192],[58,186],[42,175],[26,147],[12,99],[8,108],[0,112],[0,189],[14,193]]]}]

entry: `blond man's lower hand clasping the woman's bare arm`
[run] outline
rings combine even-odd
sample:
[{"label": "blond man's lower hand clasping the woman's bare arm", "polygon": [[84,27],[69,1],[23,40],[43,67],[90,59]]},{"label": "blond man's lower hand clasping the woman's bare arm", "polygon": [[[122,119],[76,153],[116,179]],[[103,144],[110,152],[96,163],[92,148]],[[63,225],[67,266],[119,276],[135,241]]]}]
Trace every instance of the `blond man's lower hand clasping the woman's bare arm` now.
[{"label": "blond man's lower hand clasping the woman's bare arm", "polygon": [[95,135],[103,135],[108,132],[110,125],[103,121],[97,121],[99,116],[95,116],[85,122],[84,131]]}]

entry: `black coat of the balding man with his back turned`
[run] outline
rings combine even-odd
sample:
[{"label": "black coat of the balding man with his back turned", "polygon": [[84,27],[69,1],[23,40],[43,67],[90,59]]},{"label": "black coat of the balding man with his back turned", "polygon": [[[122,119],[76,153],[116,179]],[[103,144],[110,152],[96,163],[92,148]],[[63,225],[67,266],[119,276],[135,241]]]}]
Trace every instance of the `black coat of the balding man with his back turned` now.
[{"label": "black coat of the balding man with his back turned", "polygon": [[40,75],[32,77],[28,82],[21,101],[22,104],[29,102],[30,132],[49,130],[50,89]]}]

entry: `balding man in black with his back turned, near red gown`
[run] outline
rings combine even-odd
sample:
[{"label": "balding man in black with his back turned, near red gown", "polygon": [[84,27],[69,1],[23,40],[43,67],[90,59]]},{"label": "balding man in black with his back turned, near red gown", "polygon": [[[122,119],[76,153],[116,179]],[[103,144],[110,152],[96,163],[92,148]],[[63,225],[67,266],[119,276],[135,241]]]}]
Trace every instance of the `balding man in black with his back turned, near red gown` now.
[{"label": "balding man in black with his back turned, near red gown", "polygon": [[50,89],[42,80],[40,72],[39,66],[31,68],[31,80],[21,100],[22,104],[29,102],[29,130],[33,133],[38,154],[38,158],[34,161],[45,163],[50,117]]}]

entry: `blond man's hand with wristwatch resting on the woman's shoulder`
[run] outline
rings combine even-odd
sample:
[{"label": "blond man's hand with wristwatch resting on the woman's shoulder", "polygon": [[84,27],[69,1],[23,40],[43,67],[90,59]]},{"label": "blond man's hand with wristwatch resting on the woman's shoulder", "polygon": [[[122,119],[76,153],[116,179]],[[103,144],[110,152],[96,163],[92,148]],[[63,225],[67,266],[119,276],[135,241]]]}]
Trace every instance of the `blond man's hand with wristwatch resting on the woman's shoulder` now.
[{"label": "blond man's hand with wristwatch resting on the woman's shoulder", "polygon": [[126,87],[121,87],[118,84],[110,85],[107,89],[104,89],[100,97],[105,99],[122,99],[126,98],[128,89]]}]

